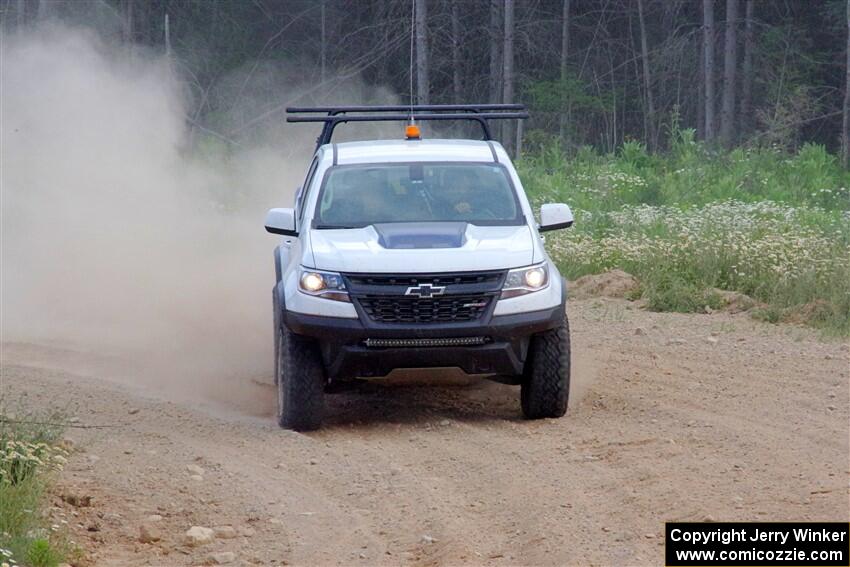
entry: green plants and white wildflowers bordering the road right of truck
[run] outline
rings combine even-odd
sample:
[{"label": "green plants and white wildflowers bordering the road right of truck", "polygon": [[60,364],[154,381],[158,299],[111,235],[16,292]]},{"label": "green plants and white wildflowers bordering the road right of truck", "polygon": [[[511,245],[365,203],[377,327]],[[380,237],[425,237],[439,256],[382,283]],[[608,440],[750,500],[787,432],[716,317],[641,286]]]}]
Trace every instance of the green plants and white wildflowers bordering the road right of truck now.
[{"label": "green plants and white wildflowers bordering the road right of truck", "polygon": [[652,310],[711,311],[733,291],[755,317],[850,335],[850,174],[822,146],[715,151],[681,130],[664,154],[544,140],[518,168],[536,205],[573,207],[574,227],[546,236],[567,278],[620,268]]}]

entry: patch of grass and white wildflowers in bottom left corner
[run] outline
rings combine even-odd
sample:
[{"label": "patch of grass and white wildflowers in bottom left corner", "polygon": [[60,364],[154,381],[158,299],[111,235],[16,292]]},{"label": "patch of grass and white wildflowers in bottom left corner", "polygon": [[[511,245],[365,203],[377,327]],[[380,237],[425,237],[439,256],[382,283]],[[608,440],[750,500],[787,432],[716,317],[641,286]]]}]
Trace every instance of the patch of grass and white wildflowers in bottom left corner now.
[{"label": "patch of grass and white wildflowers in bottom left corner", "polygon": [[61,420],[6,409],[0,399],[0,566],[56,567],[73,555],[64,526],[46,512],[51,480],[67,456]]}]

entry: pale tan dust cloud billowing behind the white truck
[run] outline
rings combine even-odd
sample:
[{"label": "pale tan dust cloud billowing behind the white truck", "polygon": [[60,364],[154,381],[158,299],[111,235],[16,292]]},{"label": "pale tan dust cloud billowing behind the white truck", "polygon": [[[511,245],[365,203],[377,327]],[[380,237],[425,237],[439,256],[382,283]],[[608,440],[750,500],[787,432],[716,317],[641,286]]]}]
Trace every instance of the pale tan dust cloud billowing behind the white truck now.
[{"label": "pale tan dust cloud billowing behind the white truck", "polygon": [[221,390],[271,374],[262,220],[291,204],[315,132],[278,124],[278,145],[204,157],[176,73],[57,23],[3,38],[0,331],[115,357],[118,379]]}]

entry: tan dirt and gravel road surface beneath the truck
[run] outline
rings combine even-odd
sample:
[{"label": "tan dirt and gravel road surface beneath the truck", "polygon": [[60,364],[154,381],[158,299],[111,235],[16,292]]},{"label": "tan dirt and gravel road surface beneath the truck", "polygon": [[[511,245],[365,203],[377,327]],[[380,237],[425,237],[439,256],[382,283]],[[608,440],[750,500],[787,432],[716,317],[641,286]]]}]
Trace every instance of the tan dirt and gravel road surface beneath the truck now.
[{"label": "tan dirt and gravel road surface beneath the truck", "polygon": [[[516,387],[431,372],[329,396],[326,427],[298,434],[275,425],[269,376],[142,386],[31,344],[3,345],[2,393],[110,426],[69,429],[53,499],[91,565],[657,565],[667,520],[850,519],[846,342],[569,309],[559,420],[523,421]],[[154,514],[161,539],[141,543]],[[191,526],[235,537],[189,547]]]}]

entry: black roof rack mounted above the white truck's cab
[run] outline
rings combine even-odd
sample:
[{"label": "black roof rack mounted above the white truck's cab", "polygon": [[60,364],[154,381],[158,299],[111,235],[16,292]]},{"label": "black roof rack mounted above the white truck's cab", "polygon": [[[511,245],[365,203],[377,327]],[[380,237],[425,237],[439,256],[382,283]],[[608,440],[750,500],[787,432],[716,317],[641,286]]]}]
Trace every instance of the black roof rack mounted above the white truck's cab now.
[{"label": "black roof rack mounted above the white truck's cab", "polygon": [[[481,125],[485,140],[492,140],[488,120],[528,118],[522,104],[417,104],[391,106],[290,106],[287,122],[323,122],[316,148],[329,144],[337,124],[415,120],[472,120]],[[352,114],[354,113],[354,114]],[[308,116],[298,116],[298,115]],[[309,116],[324,114],[324,116]],[[293,116],[294,115],[294,116]]]}]

